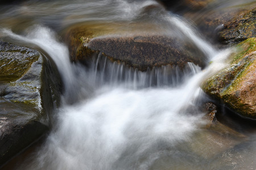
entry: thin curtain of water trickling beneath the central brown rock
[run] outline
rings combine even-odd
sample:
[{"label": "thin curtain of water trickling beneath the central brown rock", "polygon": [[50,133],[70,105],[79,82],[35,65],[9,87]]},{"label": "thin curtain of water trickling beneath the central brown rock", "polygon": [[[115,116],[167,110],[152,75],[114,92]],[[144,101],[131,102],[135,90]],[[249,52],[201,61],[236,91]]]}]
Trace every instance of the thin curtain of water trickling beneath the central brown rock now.
[{"label": "thin curtain of water trickling beneath the central brown rock", "polygon": [[[84,67],[84,66],[81,66]],[[86,78],[94,82],[94,86],[120,86],[126,88],[146,88],[146,87],[175,87],[181,84],[184,79],[200,71],[200,67],[191,62],[187,63],[184,69],[178,66],[152,67],[147,71],[139,71],[133,67],[128,67],[125,63],[110,61],[107,57],[98,54],[93,59],[92,65],[86,69]]]}]

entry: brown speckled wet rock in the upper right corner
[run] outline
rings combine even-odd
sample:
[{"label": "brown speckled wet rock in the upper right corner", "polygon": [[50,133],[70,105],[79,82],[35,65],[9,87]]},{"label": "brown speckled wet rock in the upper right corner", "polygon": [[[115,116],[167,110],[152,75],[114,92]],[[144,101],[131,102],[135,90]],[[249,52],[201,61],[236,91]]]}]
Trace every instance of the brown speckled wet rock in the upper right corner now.
[{"label": "brown speckled wet rock in the upper right corner", "polygon": [[182,15],[195,22],[209,39],[216,37],[213,40],[221,44],[236,44],[255,37],[255,2],[214,8],[217,5],[213,3],[213,8],[209,6],[201,11],[186,11]]}]

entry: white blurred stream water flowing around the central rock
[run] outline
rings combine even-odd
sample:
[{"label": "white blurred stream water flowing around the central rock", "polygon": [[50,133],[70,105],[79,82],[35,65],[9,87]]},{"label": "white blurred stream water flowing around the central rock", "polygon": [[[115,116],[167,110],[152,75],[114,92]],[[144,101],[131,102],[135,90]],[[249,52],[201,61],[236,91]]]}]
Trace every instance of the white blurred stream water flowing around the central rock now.
[{"label": "white blurred stream water flowing around the central rock", "polygon": [[[156,10],[143,13],[147,6]],[[184,18],[156,1],[26,1],[1,10],[1,39],[46,53],[65,86],[46,142],[15,169],[256,169],[256,135],[209,126],[199,108],[208,100],[201,82],[226,66],[232,49],[213,48]],[[141,72],[100,54],[87,67],[71,63],[56,32],[86,22],[158,24],[211,64]]]}]

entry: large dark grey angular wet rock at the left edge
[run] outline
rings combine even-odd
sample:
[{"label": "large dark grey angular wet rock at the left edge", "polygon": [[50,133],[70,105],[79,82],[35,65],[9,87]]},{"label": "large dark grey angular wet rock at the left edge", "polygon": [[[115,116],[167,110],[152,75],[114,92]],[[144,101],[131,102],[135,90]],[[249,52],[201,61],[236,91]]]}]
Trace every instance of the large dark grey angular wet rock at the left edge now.
[{"label": "large dark grey angular wet rock at the left edge", "polygon": [[38,51],[0,40],[0,165],[48,130],[60,102],[56,75]]}]

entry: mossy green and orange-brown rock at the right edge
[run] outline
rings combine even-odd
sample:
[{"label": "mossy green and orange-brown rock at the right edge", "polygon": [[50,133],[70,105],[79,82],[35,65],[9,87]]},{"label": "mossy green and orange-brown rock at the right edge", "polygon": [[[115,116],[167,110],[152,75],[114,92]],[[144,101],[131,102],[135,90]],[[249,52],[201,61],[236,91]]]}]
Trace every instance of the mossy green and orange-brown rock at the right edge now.
[{"label": "mossy green and orange-brown rock at the right edge", "polygon": [[240,42],[236,49],[230,66],[209,78],[202,88],[241,116],[256,119],[256,38]]}]

